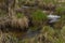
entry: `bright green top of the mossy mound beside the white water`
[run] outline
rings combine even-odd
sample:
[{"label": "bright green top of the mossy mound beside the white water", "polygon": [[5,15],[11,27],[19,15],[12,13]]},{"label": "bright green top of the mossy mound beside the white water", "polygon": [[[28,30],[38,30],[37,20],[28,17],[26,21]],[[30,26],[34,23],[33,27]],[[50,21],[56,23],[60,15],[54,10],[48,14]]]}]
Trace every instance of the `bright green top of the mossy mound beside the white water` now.
[{"label": "bright green top of the mossy mound beside the white water", "polygon": [[40,10],[34,12],[31,16],[36,20],[47,19],[47,14],[42,13]]}]

